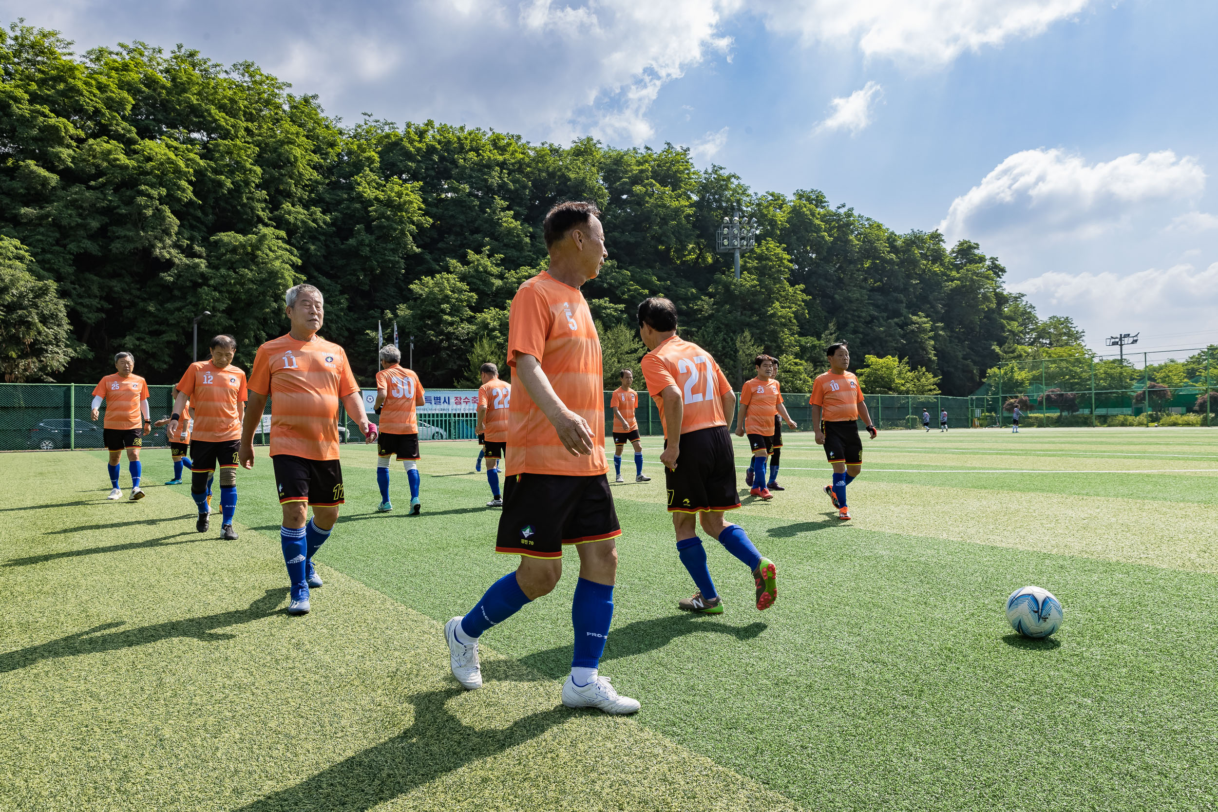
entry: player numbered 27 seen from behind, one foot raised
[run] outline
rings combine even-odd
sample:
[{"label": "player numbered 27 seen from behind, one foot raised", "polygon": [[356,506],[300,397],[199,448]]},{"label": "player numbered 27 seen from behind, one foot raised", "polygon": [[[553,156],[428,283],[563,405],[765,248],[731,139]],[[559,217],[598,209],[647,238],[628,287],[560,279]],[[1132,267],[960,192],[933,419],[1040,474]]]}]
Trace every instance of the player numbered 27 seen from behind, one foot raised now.
[{"label": "player numbered 27 seen from behind, one foot raised", "polygon": [[643,355],[643,377],[664,426],[660,461],[677,555],[698,586],[693,598],[682,598],[677,606],[704,615],[723,611],[723,600],[706,569],[706,550],[698,538],[698,516],[702,528],[753,572],[756,607],[769,609],[778,597],[773,561],[761,558],[739,525],[723,521],[723,511],[741,506],[736,452],[727,433],[736,393],[709,352],[677,336],[677,308],[669,299],[643,299],[638,306],[638,335],[650,351]]}]

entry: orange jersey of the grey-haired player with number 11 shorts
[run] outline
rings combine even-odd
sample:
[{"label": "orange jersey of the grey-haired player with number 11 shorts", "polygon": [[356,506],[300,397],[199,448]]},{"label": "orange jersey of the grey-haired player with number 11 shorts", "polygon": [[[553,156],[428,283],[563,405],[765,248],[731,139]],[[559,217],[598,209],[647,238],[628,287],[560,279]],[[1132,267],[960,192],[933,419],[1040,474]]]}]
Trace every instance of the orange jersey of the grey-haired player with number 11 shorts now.
[{"label": "orange jersey of the grey-haired player with number 11 shorts", "polygon": [[253,357],[250,388],[270,396],[272,457],[339,459],[340,399],[359,392],[342,347],[319,336],[272,338]]}]

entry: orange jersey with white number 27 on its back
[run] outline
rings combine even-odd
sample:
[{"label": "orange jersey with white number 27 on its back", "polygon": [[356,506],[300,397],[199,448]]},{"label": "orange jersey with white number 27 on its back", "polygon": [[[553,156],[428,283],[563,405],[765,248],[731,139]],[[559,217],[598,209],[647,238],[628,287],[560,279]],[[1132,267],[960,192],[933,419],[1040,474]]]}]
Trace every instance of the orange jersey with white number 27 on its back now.
[{"label": "orange jersey with white number 27 on its back", "polygon": [[719,398],[732,392],[732,385],[709,352],[678,336],[665,338],[659,347],[643,355],[643,379],[664,422],[664,398],[660,396],[670,386],[681,391],[685,402],[681,433],[726,426],[723,404]]}]

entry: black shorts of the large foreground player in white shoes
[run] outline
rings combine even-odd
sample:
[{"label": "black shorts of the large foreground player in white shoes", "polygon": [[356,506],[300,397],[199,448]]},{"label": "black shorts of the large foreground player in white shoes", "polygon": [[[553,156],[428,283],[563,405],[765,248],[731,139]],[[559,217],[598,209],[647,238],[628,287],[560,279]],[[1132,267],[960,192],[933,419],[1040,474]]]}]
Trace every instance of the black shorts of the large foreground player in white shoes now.
[{"label": "black shorts of the large foreground player in white shoes", "polygon": [[604,474],[514,474],[503,483],[496,553],[560,559],[564,544],[621,536]]}]

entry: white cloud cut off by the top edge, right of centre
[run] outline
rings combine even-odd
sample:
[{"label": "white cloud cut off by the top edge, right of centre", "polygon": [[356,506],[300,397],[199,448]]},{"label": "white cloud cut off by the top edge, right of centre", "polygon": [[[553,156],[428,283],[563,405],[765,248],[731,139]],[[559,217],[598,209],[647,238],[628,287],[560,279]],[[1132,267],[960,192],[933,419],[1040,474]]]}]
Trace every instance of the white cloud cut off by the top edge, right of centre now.
[{"label": "white cloud cut off by the top edge, right of centre", "polygon": [[805,44],[942,66],[963,51],[1035,37],[1091,0],[754,0],[766,26]]}]

